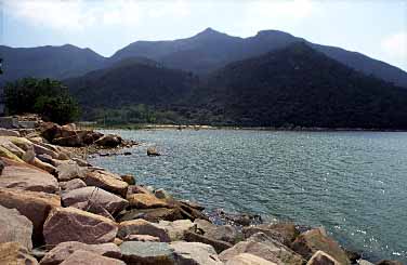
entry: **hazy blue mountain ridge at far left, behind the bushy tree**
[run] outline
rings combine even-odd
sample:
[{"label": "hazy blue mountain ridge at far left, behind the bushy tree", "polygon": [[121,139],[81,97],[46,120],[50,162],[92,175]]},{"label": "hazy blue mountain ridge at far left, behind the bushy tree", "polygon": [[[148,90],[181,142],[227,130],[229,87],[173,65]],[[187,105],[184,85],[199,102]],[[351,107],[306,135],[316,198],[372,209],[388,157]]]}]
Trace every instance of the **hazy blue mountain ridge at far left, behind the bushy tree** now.
[{"label": "hazy blue mountain ridge at far left, behind the bushy tree", "polygon": [[64,79],[104,67],[105,57],[90,49],[62,47],[10,48],[0,45],[4,75],[0,83],[23,77]]}]

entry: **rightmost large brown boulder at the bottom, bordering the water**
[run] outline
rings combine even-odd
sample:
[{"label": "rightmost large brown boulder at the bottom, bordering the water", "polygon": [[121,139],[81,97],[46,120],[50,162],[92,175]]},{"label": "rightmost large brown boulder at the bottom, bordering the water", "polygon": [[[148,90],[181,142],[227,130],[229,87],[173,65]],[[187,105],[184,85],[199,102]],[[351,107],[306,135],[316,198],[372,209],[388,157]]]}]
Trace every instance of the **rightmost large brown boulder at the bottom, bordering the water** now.
[{"label": "rightmost large brown boulder at the bottom, bordering the water", "polygon": [[292,242],[291,248],[305,260],[310,260],[315,252],[321,250],[340,264],[351,264],[345,251],[341,249],[337,241],[328,237],[323,229],[311,229],[302,233]]}]

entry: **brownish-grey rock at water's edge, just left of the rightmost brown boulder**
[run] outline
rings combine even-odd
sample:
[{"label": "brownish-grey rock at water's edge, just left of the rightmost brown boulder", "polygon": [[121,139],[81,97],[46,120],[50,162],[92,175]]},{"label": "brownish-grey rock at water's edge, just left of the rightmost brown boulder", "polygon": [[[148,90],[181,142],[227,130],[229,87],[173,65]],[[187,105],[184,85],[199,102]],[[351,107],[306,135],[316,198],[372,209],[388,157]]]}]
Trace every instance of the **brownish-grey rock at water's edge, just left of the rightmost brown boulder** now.
[{"label": "brownish-grey rock at water's edge, just left of the rightmost brown boulder", "polygon": [[293,224],[289,223],[278,223],[278,224],[261,224],[254,226],[247,226],[241,229],[245,238],[249,238],[257,233],[264,233],[268,237],[290,246],[291,242],[300,234]]}]

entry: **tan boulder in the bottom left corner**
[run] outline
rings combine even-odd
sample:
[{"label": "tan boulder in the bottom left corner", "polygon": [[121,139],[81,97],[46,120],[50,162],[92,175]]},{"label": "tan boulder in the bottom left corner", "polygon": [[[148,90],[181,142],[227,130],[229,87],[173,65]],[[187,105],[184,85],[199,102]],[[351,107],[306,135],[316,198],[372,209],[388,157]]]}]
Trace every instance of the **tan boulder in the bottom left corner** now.
[{"label": "tan boulder in the bottom left corner", "polygon": [[0,243],[0,264],[37,265],[37,260],[18,242]]}]

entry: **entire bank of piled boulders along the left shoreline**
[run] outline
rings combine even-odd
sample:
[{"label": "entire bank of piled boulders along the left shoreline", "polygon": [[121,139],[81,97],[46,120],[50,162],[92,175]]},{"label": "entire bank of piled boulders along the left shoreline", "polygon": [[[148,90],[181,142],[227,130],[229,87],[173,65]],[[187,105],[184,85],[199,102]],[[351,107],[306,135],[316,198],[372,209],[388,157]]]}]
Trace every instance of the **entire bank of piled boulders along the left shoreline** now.
[{"label": "entire bank of piled boulders along the left shoreline", "polygon": [[247,216],[214,225],[202,207],[92,167],[66,147],[123,146],[119,136],[51,123],[24,137],[2,132],[0,264],[347,265],[358,259],[323,228],[251,225]]}]

